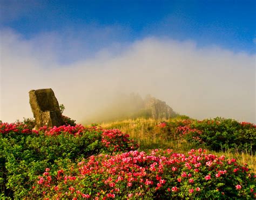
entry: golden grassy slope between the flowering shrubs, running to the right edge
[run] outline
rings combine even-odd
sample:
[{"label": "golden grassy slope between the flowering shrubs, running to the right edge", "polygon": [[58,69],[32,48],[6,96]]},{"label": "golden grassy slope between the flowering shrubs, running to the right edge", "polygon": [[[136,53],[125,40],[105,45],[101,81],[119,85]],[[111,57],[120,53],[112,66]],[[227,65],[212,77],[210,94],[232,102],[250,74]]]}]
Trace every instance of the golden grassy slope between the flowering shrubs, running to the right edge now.
[{"label": "golden grassy slope between the flowering shrubs, running to the right edge", "polygon": [[[103,128],[118,128],[120,131],[130,135],[132,139],[138,142],[140,145],[140,151],[149,152],[151,149],[162,148],[162,149],[173,149],[175,152],[186,153],[190,151],[191,148],[203,147],[207,149],[208,153],[215,155],[225,155],[228,158],[235,158],[240,164],[247,163],[248,166],[256,173],[256,152],[252,149],[252,144],[255,145],[256,132],[253,128],[252,134],[254,135],[254,140],[248,145],[248,148],[239,149],[225,148],[223,147],[220,151],[213,151],[207,145],[195,145],[184,138],[174,138],[172,134],[177,127],[177,124],[181,125],[181,122],[197,122],[197,120],[190,119],[186,116],[180,116],[172,118],[169,120],[155,120],[155,119],[129,119],[129,120],[117,120],[111,123],[99,124]],[[234,120],[233,120],[234,121]],[[166,124],[173,125],[173,127],[159,127],[161,122],[166,122]],[[234,121],[235,122],[235,121]]]}]

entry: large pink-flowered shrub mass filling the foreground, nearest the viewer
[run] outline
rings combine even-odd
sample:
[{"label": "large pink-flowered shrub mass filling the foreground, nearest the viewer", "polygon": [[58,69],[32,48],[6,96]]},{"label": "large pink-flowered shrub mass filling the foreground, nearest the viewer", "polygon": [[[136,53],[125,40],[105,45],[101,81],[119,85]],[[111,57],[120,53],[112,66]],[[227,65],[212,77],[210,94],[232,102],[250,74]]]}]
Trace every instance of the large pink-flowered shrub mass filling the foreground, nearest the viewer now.
[{"label": "large pink-flowered shrub mass filling the foreground, nearest the viewer", "polygon": [[30,197],[253,198],[254,174],[234,159],[191,149],[188,155],[154,150],[91,156],[68,170],[46,169]]}]

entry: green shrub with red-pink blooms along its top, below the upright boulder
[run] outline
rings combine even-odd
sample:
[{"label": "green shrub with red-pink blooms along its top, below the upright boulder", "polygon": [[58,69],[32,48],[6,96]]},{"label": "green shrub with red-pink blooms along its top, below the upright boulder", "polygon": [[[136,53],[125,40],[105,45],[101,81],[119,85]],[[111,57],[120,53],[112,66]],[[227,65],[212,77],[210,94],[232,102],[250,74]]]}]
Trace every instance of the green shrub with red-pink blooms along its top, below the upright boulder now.
[{"label": "green shrub with red-pink blooms along its top, below the upright boulder", "polygon": [[[110,144],[108,144],[110,142]],[[22,198],[32,180],[46,167],[57,169],[77,159],[101,152],[137,149],[136,143],[118,130],[100,127],[41,127],[32,131],[23,123],[0,122],[0,190],[5,196]]]}]

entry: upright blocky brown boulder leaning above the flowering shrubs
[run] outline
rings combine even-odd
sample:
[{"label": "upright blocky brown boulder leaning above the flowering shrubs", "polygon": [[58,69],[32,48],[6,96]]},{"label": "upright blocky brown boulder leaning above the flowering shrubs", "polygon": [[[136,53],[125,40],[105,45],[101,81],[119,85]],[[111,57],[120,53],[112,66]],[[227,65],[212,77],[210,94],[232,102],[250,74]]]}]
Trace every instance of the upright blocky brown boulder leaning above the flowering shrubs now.
[{"label": "upright blocky brown boulder leaning above the flowering shrubs", "polygon": [[29,91],[29,103],[36,120],[35,128],[64,124],[59,103],[51,88]]}]

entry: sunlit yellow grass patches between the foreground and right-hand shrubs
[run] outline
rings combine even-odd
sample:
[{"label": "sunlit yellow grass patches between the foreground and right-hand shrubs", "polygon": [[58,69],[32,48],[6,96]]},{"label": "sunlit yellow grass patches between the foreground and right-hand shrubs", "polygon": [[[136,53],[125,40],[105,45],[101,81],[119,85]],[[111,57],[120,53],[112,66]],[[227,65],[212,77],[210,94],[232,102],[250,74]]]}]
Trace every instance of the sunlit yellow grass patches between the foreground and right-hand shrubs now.
[{"label": "sunlit yellow grass patches between the foreground and right-hand shrubs", "polygon": [[[171,121],[179,120],[178,118],[170,119]],[[170,121],[168,120],[168,121]],[[167,121],[167,120],[166,120]],[[161,135],[154,130],[154,127],[160,122],[160,120],[154,119],[127,119],[122,121],[116,121],[112,123],[102,123],[100,126],[103,128],[118,128],[120,131],[130,135],[130,137],[138,142],[140,145],[139,150],[149,152],[151,149],[173,149],[174,152],[186,153],[191,148],[195,148],[185,140],[174,140],[167,135]],[[249,168],[256,173],[256,154],[255,152],[239,152],[231,151],[231,149],[225,149],[221,152],[210,151],[207,149],[207,153],[215,155],[225,155],[227,158],[234,158],[239,164],[243,165],[247,163]]]}]

